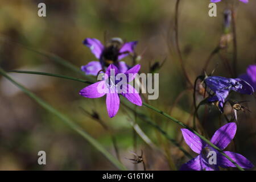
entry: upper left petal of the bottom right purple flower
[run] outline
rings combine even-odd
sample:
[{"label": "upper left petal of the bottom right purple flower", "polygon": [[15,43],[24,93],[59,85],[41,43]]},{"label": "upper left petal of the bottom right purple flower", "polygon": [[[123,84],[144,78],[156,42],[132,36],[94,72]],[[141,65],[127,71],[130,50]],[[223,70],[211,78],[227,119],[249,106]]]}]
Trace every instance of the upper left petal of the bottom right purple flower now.
[{"label": "upper left petal of the bottom right purple flower", "polygon": [[193,134],[188,129],[181,129],[183,138],[188,146],[197,154],[200,154],[201,150],[205,146],[203,140],[199,138],[196,134]]}]

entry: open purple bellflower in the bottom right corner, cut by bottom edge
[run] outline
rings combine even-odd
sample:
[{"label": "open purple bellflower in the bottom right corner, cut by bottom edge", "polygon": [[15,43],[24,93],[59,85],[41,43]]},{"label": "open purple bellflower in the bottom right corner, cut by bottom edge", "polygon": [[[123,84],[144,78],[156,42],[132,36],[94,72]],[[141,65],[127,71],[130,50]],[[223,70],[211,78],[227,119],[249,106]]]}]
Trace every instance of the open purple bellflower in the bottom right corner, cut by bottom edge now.
[{"label": "open purple bellflower in the bottom right corner, cut by bottom edge", "polygon": [[[236,134],[237,125],[236,123],[228,123],[220,129],[218,129],[210,142],[215,144],[221,150],[224,150],[234,138]],[[220,152],[210,147],[207,143],[201,140],[197,135],[193,134],[191,131],[187,129],[181,129],[183,134],[183,138],[188,146],[197,154],[199,154],[196,158],[189,160],[189,162],[183,164],[180,168],[182,171],[214,171],[218,170],[218,166],[222,168],[228,167],[236,167],[230,160],[228,160],[225,156],[223,156]],[[216,152],[216,164],[209,163],[209,154],[210,152]],[[224,152],[228,155],[234,162],[236,162],[242,168],[252,168],[253,164],[246,159],[241,154],[237,154],[230,151]]]}]

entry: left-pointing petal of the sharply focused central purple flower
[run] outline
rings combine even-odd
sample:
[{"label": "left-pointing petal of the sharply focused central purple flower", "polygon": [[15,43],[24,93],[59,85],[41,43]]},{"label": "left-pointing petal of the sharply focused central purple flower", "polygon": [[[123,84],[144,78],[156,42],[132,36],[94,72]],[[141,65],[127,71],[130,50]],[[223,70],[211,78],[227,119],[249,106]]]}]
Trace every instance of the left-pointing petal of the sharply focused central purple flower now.
[{"label": "left-pointing petal of the sharply focused central purple flower", "polygon": [[105,81],[98,81],[95,84],[86,86],[79,92],[81,96],[88,98],[102,97],[105,93]]}]

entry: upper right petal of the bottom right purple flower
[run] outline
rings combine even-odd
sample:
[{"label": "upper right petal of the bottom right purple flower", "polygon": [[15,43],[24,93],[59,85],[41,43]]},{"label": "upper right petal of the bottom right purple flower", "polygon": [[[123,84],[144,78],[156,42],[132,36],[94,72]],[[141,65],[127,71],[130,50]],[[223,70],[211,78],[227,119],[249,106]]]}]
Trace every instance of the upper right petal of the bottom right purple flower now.
[{"label": "upper right petal of the bottom right purple flower", "polygon": [[210,139],[210,142],[215,144],[218,148],[223,150],[228,146],[228,144],[231,142],[231,140],[234,138],[234,135],[236,135],[237,131],[237,125],[236,123],[228,123],[220,129],[218,129],[212,139]]}]

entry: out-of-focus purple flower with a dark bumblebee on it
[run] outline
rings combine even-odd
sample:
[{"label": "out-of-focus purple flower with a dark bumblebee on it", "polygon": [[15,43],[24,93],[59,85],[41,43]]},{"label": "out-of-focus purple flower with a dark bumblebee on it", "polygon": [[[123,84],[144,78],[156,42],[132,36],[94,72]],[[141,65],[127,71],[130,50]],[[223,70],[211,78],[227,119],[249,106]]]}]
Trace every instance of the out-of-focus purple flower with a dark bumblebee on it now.
[{"label": "out-of-focus purple flower with a dark bumblebee on it", "polygon": [[106,46],[103,46],[100,40],[91,38],[86,38],[83,43],[100,60],[100,62],[91,61],[81,67],[81,70],[86,75],[94,76],[97,76],[98,72],[105,70],[110,64],[114,64],[119,69],[119,72],[125,73],[129,67],[125,62],[119,60],[128,56],[129,53],[134,53],[134,48],[137,45],[137,41],[123,43],[120,38],[111,39]]}]

